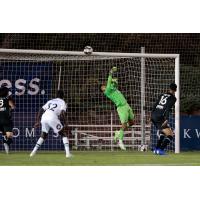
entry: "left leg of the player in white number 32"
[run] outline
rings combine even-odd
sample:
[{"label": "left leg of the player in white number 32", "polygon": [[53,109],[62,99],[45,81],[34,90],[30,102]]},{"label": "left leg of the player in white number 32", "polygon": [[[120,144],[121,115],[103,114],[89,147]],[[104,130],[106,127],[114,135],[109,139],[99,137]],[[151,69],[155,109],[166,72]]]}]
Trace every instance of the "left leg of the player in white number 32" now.
[{"label": "left leg of the player in white number 32", "polygon": [[30,157],[34,156],[37,152],[37,150],[41,147],[41,145],[43,144],[43,142],[46,140],[47,136],[48,136],[48,132],[49,132],[49,125],[47,122],[42,122],[42,133],[40,138],[38,139],[35,147],[33,148],[33,151],[30,154]]}]

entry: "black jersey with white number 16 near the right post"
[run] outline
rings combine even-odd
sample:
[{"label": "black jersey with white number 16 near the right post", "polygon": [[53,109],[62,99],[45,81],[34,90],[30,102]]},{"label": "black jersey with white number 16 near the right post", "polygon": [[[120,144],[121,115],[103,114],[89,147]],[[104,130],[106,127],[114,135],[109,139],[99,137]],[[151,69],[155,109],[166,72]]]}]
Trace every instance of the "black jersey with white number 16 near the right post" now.
[{"label": "black jersey with white number 16 near the right post", "polygon": [[176,97],[173,94],[168,92],[160,95],[153,106],[152,115],[168,119],[169,113],[175,103]]}]

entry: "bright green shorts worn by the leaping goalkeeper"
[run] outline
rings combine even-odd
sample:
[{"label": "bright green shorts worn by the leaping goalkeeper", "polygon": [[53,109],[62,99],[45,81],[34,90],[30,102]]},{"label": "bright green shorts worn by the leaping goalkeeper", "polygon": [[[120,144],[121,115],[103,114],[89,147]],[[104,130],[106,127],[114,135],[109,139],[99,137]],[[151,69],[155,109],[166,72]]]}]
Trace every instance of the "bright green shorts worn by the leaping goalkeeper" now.
[{"label": "bright green shorts worn by the leaping goalkeeper", "polygon": [[128,123],[128,121],[134,119],[134,113],[132,108],[127,104],[117,107],[117,112],[122,124]]}]

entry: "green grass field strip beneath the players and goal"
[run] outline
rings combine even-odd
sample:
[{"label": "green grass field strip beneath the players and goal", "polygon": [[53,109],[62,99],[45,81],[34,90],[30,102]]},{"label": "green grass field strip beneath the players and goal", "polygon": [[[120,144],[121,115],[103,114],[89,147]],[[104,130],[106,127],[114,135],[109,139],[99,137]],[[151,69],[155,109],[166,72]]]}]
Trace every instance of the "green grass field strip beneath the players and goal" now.
[{"label": "green grass field strip beneath the players and goal", "polygon": [[75,151],[72,158],[64,152],[38,152],[30,158],[30,152],[0,153],[1,166],[200,166],[200,152],[184,152],[156,156],[151,152],[95,152]]}]

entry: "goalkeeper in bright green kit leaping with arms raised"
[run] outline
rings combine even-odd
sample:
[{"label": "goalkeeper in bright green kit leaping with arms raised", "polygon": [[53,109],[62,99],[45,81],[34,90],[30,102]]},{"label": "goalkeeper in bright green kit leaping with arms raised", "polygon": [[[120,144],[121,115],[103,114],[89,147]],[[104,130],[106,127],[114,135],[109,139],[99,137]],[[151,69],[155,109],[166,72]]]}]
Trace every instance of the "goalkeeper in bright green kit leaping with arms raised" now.
[{"label": "goalkeeper in bright green kit leaping with arms raised", "polygon": [[115,131],[114,141],[118,141],[119,147],[122,150],[126,150],[123,143],[124,131],[128,128],[128,126],[132,126],[134,124],[134,114],[124,95],[117,89],[117,79],[112,78],[113,72],[116,71],[117,67],[113,67],[110,70],[107,85],[101,85],[101,91],[117,107],[117,112],[121,121],[121,128],[119,131]]}]

